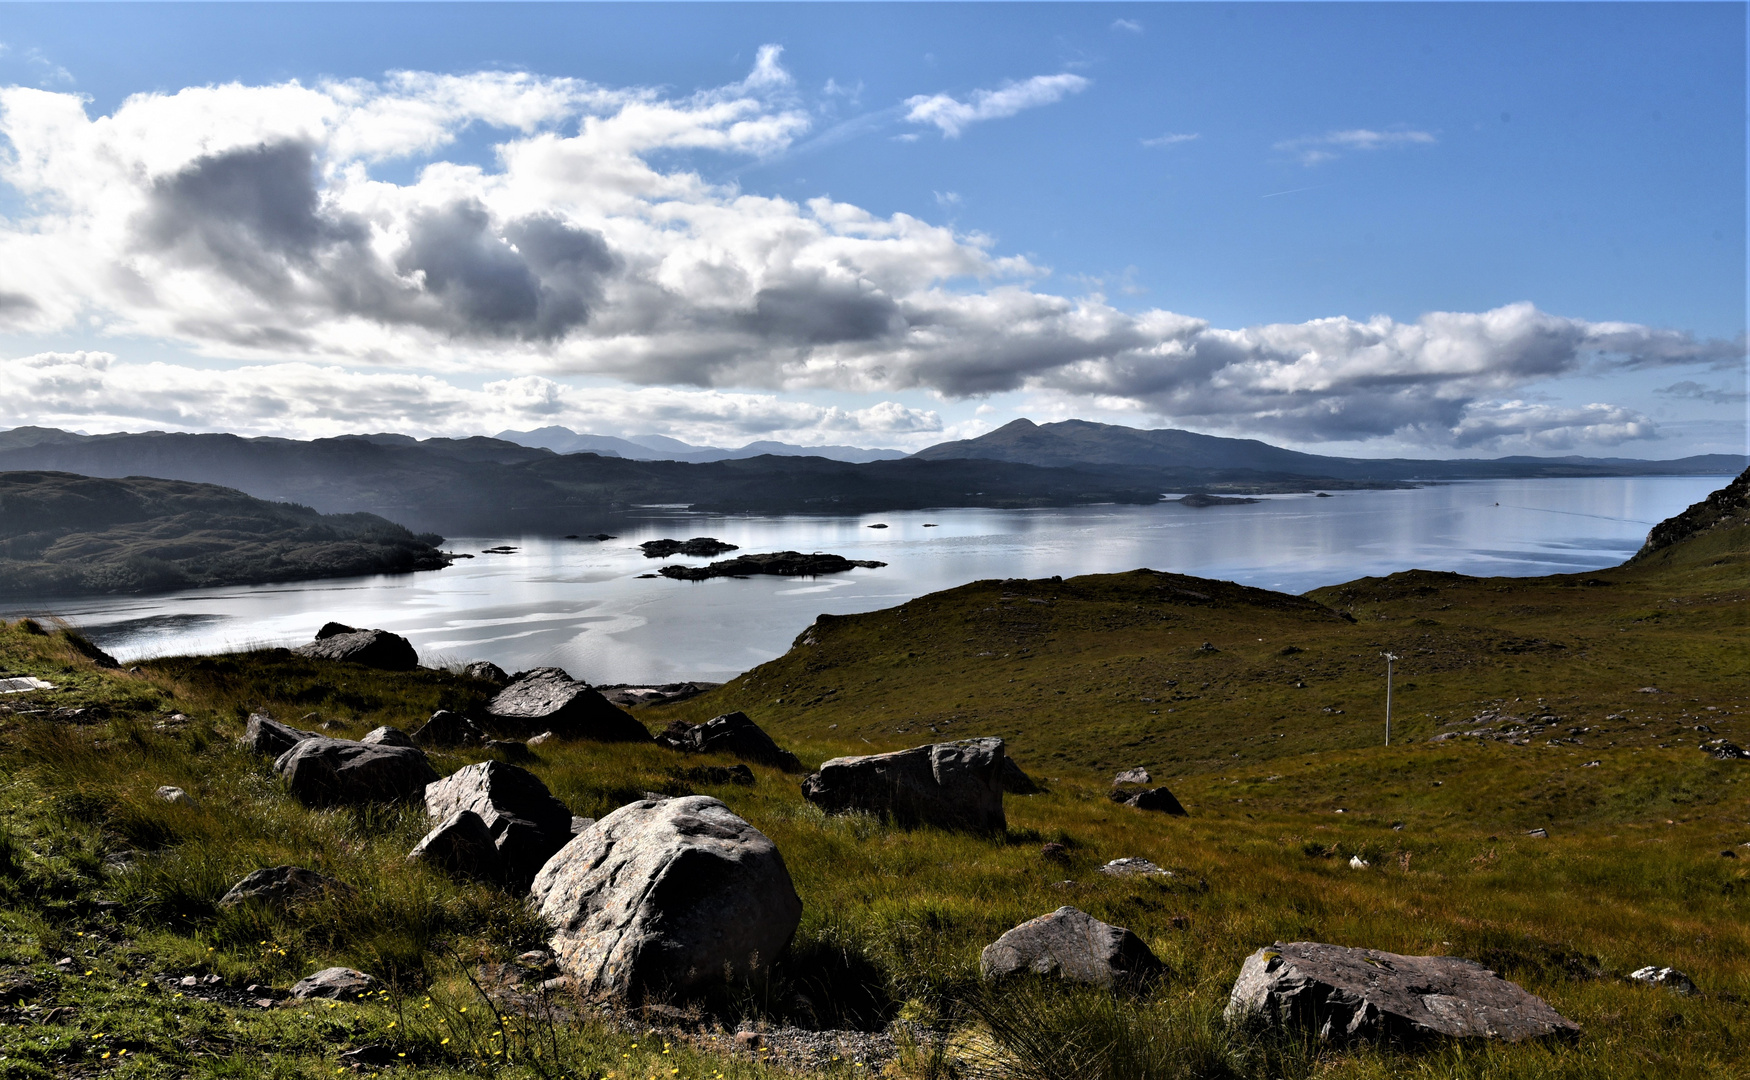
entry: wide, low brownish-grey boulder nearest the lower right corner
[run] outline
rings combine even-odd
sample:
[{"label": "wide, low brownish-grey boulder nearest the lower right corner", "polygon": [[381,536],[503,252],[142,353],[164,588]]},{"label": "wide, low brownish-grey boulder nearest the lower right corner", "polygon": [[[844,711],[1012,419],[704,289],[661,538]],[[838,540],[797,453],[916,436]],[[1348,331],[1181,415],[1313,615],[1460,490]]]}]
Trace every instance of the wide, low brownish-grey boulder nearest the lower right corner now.
[{"label": "wide, low brownish-grey boulder nearest the lower right corner", "polygon": [[1246,957],[1227,1019],[1250,1017],[1321,1040],[1454,1036],[1516,1043],[1580,1033],[1547,1001],[1475,961],[1318,942],[1278,942]]}]

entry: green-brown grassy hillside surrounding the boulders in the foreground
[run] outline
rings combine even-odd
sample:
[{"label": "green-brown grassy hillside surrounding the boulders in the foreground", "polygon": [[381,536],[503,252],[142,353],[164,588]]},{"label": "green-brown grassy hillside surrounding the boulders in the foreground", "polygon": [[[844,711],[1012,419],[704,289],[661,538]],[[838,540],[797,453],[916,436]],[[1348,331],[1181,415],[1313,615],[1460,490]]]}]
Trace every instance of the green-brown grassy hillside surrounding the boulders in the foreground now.
[{"label": "green-brown grassy hillside surrounding the boulders in the foreground", "polygon": [[[803,924],[772,980],[719,1001],[721,1015],[922,1024],[887,1076],[947,1076],[943,1057],[1111,1080],[1734,1076],[1750,1036],[1750,863],[1720,852],[1750,854],[1750,761],[1698,744],[1750,739],[1746,539],[1729,520],[1598,574],[1410,572],[1312,597],[1153,572],[975,583],[822,620],[714,695],[640,712],[660,726],[740,705],[810,765],[1003,733],[1048,779],[1006,800],[1006,837],[822,817],[793,775],[754,767],[752,786],[710,786],[690,777],[710,760],[654,746],[542,746],[530,767],[579,814],[644,789],[700,791],[768,833]],[[1379,746],[1388,648],[1404,656],[1391,747]],[[352,1073],[340,1054],[359,1047],[406,1054],[383,1075],[408,1076],[875,1073],[593,1012],[551,1031],[514,1019],[495,1036],[466,973],[539,940],[525,910],[406,866],[418,814],[303,809],[234,746],[257,707],[359,735],[467,709],[483,684],[278,649],[98,670],[75,637],[30,625],[0,630],[0,667],[60,686],[0,698],[0,1075],[332,1076]],[[1106,800],[1108,770],[1136,763],[1190,816]],[[163,803],[159,784],[200,802]],[[1045,840],[1068,861],[1041,858]],[[1122,856],[1174,877],[1097,873]],[[287,912],[215,907],[231,880],[282,861],[359,891]],[[1132,928],[1167,978],[1138,998],[980,989],[978,950],[1062,903]],[[1225,1027],[1244,956],[1298,938],[1484,961],[1584,1034],[1398,1050]],[[60,957],[75,963],[58,970]],[[284,987],[331,963],[388,992],[264,1010],[177,984]],[[1703,992],[1628,982],[1643,964],[1682,968]],[[1041,1064],[1038,1047],[1073,1061]]]}]

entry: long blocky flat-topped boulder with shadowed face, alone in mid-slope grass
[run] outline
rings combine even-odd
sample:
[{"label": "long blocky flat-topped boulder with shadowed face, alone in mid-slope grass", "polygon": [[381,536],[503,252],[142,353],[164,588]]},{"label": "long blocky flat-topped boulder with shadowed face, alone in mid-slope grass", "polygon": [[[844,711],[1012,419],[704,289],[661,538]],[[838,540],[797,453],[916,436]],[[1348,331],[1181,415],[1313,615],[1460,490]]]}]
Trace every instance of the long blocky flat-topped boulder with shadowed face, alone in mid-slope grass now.
[{"label": "long blocky flat-topped boulder with shadowed face, alone in mid-slope grass", "polygon": [[802,782],[828,812],[866,810],[903,826],[1003,831],[1003,740],[962,739],[891,754],[833,758]]}]

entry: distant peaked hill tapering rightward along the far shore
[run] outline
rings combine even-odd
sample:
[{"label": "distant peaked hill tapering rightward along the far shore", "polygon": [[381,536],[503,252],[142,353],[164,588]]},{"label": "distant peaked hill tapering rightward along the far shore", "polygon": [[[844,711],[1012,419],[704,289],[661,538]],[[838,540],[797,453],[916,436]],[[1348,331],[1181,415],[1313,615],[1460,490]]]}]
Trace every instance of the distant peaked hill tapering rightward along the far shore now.
[{"label": "distant peaked hill tapering rightward along the far shore", "polygon": [[975,439],[919,450],[924,460],[982,459],[1027,466],[1153,466],[1164,469],[1253,469],[1335,480],[1502,480],[1521,476],[1731,476],[1750,459],[1704,453],[1675,460],[1591,457],[1363,459],[1283,450],[1256,439],[1225,439],[1178,429],[1141,431],[1088,420],[1013,420]]}]

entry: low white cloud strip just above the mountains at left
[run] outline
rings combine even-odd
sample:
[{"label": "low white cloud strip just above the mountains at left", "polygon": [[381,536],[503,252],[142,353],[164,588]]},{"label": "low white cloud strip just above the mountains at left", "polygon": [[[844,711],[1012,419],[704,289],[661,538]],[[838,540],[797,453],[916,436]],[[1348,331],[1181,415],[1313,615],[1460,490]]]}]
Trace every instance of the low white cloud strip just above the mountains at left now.
[{"label": "low white cloud strip just above the mountains at left", "polygon": [[42,352],[0,361],[10,392],[0,427],[46,424],[100,431],[234,431],[336,436],[399,431],[472,436],[558,424],[595,434],[663,431],[693,443],[934,441],[931,410],[880,401],[847,410],[723,390],[572,387],[523,375],[480,389],[432,375],[362,373],[329,364],[252,364],[229,371],[128,364],[107,352]]}]

